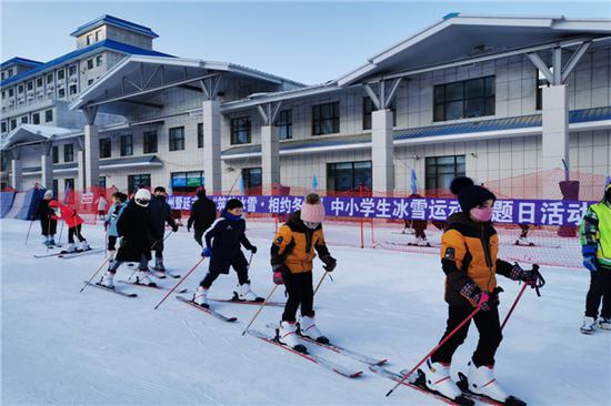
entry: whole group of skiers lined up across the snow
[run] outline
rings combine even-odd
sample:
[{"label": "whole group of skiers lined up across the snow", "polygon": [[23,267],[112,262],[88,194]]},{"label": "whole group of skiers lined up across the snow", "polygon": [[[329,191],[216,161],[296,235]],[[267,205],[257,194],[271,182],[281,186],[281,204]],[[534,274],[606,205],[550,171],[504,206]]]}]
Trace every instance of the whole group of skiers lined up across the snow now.
[{"label": "whole group of skiers lined up across the snow", "polygon": [[[533,288],[542,287],[544,281],[537,266],[523,270],[498,256],[499,236],[491,222],[495,195],[483,186],[478,186],[465,176],[459,176],[451,183],[451,192],[457,196],[461,212],[452,214],[445,222],[441,238],[441,268],[445,274],[445,302],[448,321],[440,345],[425,359],[419,369],[428,389],[459,404],[470,404],[463,389],[450,376],[450,365],[457,348],[468,335],[470,321],[479,331],[479,342],[465,376],[467,389],[471,393],[492,398],[508,405],[522,405],[510,396],[494,378],[495,352],[502,341],[499,318],[499,294],[497,275],[519,281]],[[233,267],[238,275],[238,290],[234,300],[263,302],[254,294],[249,280],[250,261],[241,247],[257,253],[257,246],[246,235],[243,204],[231,199],[227,201],[220,216],[217,217],[216,204],[206,196],[200,187],[198,201],[191,210],[188,230],[194,229],[194,240],[201,246],[201,255],[209,258],[208,272],[201,280],[193,303],[209,307],[208,292],[221,274],[228,274]],[[100,284],[113,288],[113,277],[124,262],[138,262],[137,283],[154,286],[148,267],[156,253],[154,270],[163,273],[163,233],[166,224],[178,230],[166,202],[166,191],[157,187],[154,195],[147,189],[140,189],[131,200],[122,193],[112,195],[112,205],[106,215],[108,230],[108,250],[112,260]],[[66,205],[44,195],[39,213],[49,214],[42,221],[46,243],[53,243],[57,219],[63,219],[69,225],[69,238],[74,235],[87,245],[80,233],[82,220]],[[270,247],[272,281],[284,285],[287,303],[278,327],[278,342],[294,351],[304,352],[299,335],[307,336],[321,344],[329,339],[315,324],[313,306],[312,270],[318,256],[325,272],[332,272],[337,261],[331,256],[324,241],[322,224],[324,206],[315,193],[308,194],[301,210],[294,212],[274,235]],[[116,251],[117,238],[121,237]],[[71,244],[73,244],[72,240]],[[607,187],[601,203],[592,205],[581,225],[581,242],[584,266],[591,271],[591,286],[588,293],[585,321],[582,332],[591,333],[598,322],[601,328],[611,328],[611,185]],[[81,245],[82,246],[82,245]],[[603,297],[601,317],[597,321],[598,307]],[[300,309],[299,322],[297,313]]]}]

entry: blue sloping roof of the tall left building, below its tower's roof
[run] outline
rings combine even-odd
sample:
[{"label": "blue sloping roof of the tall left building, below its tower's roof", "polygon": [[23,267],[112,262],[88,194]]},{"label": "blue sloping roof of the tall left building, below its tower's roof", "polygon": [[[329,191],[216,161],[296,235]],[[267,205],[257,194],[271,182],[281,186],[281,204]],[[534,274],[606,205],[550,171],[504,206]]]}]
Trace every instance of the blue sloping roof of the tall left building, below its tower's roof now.
[{"label": "blue sloping roof of the tall left building, below its tower's roof", "polygon": [[9,85],[11,83],[19,82],[26,78],[29,78],[31,75],[41,73],[43,71],[47,71],[49,69],[53,69],[58,65],[61,65],[63,63],[67,63],[68,61],[81,58],[90,52],[99,51],[99,50],[111,50],[117,51],[126,54],[138,54],[138,55],[154,55],[154,57],[168,57],[168,58],[174,58],[173,55],[170,55],[168,53],[158,52],[144,48],[139,48],[134,45],[130,45],[122,42],[117,42],[113,40],[103,40],[100,42],[97,42],[92,45],[89,45],[87,48],[81,48],[72,52],[68,52],[59,58],[56,58],[47,63],[42,63],[33,69],[30,69],[26,72],[21,72],[19,74],[16,74],[14,77],[11,77],[2,82],[0,82],[1,87]]}]

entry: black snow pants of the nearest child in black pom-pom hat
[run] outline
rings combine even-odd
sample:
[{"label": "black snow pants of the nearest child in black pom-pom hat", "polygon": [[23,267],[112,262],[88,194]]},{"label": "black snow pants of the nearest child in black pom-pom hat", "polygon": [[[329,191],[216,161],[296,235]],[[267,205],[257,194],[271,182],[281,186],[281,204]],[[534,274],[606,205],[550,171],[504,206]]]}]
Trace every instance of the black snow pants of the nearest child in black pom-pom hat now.
[{"label": "black snow pants of the nearest child in black pom-pom hat", "polygon": [[[443,338],[450,334],[462,321],[464,321],[472,312],[471,306],[449,306],[448,307],[448,327],[443,334]],[[473,316],[475,326],[480,332],[480,341],[478,347],[473,353],[473,363],[480,367],[482,365],[494,365],[494,354],[503,336],[501,334],[501,324],[499,322],[499,308],[494,307],[488,312],[479,311]],[[454,335],[445,342],[437,352],[431,356],[433,363],[450,364],[452,362],[452,355],[457,348],[464,343],[467,333],[469,333],[469,325],[471,322],[465,323]]]}]

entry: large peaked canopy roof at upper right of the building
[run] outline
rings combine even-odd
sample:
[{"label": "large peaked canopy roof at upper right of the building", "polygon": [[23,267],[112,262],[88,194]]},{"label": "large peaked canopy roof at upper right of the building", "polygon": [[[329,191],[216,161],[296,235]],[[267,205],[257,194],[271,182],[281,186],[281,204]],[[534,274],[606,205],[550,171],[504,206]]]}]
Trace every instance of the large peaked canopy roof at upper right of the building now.
[{"label": "large peaked canopy roof at upper right of the building", "polygon": [[[367,63],[338,79],[339,85],[370,77],[434,67],[537,44],[580,38],[609,39],[610,19],[565,19],[562,16],[474,16],[450,13]],[[448,44],[452,44],[448,47]],[[570,45],[570,44],[567,44]],[[433,52],[431,52],[433,51]]]}]

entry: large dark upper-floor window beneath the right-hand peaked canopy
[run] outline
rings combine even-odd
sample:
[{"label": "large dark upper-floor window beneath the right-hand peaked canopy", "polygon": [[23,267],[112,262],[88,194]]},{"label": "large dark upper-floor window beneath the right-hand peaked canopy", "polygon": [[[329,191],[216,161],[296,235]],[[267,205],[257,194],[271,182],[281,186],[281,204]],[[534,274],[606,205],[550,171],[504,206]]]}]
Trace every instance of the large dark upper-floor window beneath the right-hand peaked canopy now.
[{"label": "large dark upper-floor window beneath the right-hand peaked canopy", "polygon": [[494,115],[494,77],[434,87],[434,121]]}]

